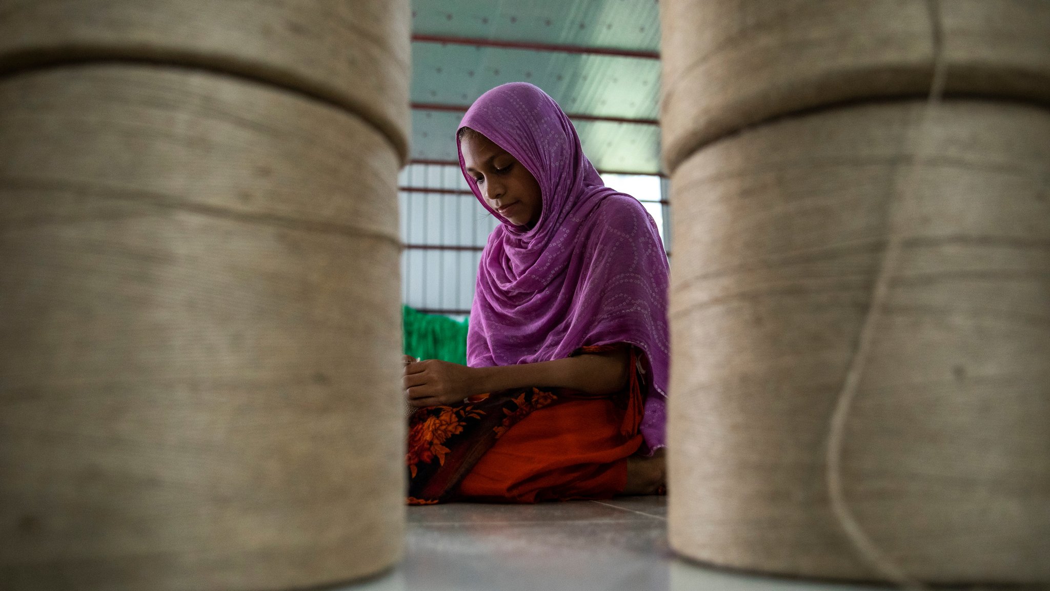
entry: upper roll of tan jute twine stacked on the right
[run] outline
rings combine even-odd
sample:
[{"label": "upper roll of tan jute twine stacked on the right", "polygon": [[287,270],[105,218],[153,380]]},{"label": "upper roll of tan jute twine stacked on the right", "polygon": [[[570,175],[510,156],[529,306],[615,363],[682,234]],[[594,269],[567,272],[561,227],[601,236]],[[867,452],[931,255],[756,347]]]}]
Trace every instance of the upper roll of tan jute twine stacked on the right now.
[{"label": "upper roll of tan jute twine stacked on the right", "polygon": [[664,157],[785,113],[926,96],[934,57],[952,96],[1050,101],[1046,0],[660,2]]}]

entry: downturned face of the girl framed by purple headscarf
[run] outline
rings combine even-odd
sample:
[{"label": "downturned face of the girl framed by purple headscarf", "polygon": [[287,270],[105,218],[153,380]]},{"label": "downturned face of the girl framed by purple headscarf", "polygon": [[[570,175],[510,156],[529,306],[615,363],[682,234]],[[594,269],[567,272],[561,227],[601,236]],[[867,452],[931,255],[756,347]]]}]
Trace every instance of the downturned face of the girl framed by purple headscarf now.
[{"label": "downturned face of the girl framed by purple headscarf", "polygon": [[478,132],[462,135],[460,151],[467,174],[474,177],[488,207],[514,226],[536,226],[543,211],[543,200],[540,184],[532,173]]}]

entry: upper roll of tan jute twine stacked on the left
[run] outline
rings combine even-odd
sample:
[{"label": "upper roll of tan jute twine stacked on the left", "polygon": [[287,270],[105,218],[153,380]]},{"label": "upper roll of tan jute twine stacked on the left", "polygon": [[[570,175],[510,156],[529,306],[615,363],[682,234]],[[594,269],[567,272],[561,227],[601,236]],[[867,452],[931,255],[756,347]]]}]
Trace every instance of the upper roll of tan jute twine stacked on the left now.
[{"label": "upper roll of tan jute twine stacked on the left", "polygon": [[203,67],[348,108],[407,154],[406,1],[0,0],[0,72],[86,60]]}]

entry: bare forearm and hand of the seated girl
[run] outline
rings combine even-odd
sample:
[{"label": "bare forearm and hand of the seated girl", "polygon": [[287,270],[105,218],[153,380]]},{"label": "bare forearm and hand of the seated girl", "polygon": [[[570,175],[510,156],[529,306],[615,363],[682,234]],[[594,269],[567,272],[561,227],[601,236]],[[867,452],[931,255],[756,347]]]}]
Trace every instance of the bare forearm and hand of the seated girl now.
[{"label": "bare forearm and hand of the seated girl", "polygon": [[627,386],[627,347],[543,361],[495,367],[467,367],[428,359],[405,367],[404,388],[415,406],[459,402],[468,396],[517,387],[565,387],[607,395]]}]

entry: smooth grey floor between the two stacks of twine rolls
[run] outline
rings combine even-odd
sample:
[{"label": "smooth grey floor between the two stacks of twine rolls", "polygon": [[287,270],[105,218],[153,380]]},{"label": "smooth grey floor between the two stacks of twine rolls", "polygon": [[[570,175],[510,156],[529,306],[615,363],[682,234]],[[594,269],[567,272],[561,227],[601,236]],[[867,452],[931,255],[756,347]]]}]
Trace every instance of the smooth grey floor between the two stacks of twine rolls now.
[{"label": "smooth grey floor between the two stacks of twine rolls", "polygon": [[[845,591],[708,569],[667,546],[660,497],[408,507],[404,562],[345,591]],[[885,588],[881,588],[885,589]]]}]

